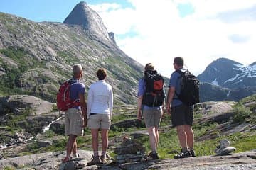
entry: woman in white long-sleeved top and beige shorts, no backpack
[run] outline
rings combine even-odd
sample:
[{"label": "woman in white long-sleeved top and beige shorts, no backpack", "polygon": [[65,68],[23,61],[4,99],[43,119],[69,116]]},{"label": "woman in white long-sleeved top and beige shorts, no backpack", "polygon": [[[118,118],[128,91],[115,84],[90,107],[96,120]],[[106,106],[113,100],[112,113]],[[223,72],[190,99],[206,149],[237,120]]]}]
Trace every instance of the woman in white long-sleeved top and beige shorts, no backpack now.
[{"label": "woman in white long-sleeved top and beige shorts, no backpack", "polygon": [[[92,160],[87,165],[106,164],[106,152],[108,146],[108,130],[110,130],[111,116],[113,110],[112,86],[107,84],[105,69],[98,69],[96,72],[98,81],[91,84],[87,98],[88,128],[92,134]],[[101,130],[102,154],[99,158],[98,132]]]}]

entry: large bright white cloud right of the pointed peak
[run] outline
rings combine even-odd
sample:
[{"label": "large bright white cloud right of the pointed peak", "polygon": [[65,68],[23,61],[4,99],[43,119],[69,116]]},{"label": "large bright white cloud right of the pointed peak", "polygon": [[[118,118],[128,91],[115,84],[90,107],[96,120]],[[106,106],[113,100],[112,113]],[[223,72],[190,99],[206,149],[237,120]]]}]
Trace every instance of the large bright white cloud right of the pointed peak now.
[{"label": "large bright white cloud right of the pointed peak", "polygon": [[[90,6],[102,17],[107,30],[116,35],[117,45],[129,57],[142,64],[153,62],[161,74],[169,77],[173,58],[184,57],[186,66],[200,74],[210,62],[226,57],[242,64],[256,60],[256,20],[228,23],[220,13],[241,12],[255,6],[256,1],[240,0],[129,0],[134,8],[117,3]],[[194,13],[181,18],[178,3],[189,3]],[[137,36],[129,35],[129,32]],[[230,36],[245,37],[235,43]]]}]

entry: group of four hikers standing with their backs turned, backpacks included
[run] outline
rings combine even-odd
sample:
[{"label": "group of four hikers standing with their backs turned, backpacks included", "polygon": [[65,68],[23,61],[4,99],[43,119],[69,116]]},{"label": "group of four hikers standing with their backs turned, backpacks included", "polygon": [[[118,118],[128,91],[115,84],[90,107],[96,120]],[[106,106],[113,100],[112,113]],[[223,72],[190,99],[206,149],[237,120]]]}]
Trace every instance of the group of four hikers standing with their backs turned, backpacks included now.
[{"label": "group of four hikers standing with their backs turned, backpacks included", "polygon": [[[181,152],[174,158],[195,157],[192,129],[193,104],[199,102],[199,81],[183,65],[182,57],[174,58],[174,72],[169,80],[167,98],[164,90],[164,78],[154,69],[153,64],[146,64],[144,77],[139,79],[137,118],[139,120],[143,118],[149,132],[151,152],[148,157],[152,159],[159,159],[157,154],[159,126],[161,118],[164,118],[165,103],[166,113],[171,115],[171,125],[176,128],[181,145]],[[80,81],[82,78],[80,64],[73,66],[73,78],[68,81],[70,86],[66,86],[66,90],[63,92],[60,89],[64,85],[60,86],[57,106],[61,111],[65,111],[65,135],[68,135],[67,154],[63,162],[68,162],[73,157],[79,157],[76,137],[83,135],[83,129],[87,126],[91,130],[93,149],[92,160],[87,165],[107,163],[106,152],[113,110],[113,92],[112,86],[105,81],[106,70],[98,69],[96,75],[98,81],[90,85],[87,104],[85,102],[85,85]],[[67,91],[70,91],[70,95],[65,94]],[[65,98],[69,98],[68,101],[65,101]],[[64,105],[65,107],[63,107]],[[98,152],[99,130],[102,139],[101,156]]]}]

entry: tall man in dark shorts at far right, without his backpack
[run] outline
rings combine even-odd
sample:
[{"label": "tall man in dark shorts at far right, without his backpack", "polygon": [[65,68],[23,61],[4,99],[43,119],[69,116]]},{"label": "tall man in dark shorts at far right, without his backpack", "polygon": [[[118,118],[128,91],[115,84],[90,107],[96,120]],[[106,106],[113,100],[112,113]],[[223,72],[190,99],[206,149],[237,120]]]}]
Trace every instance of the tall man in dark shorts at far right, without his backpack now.
[{"label": "tall man in dark shorts at far right, without his backpack", "polygon": [[[185,72],[183,68],[184,60],[182,57],[174,58],[174,69]],[[171,114],[171,124],[176,127],[178,140],[181,145],[181,152],[174,158],[194,157],[193,151],[193,106],[186,105],[179,98],[181,93],[181,73],[173,72],[169,81],[166,111]]]}]

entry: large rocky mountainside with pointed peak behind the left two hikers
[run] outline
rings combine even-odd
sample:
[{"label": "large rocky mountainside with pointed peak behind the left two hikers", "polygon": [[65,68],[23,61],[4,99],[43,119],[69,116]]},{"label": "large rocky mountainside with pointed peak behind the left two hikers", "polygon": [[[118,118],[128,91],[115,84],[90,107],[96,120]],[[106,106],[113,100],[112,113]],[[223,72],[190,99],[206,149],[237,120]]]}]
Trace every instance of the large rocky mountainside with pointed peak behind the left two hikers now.
[{"label": "large rocky mountainside with pointed peak behind the left two hikers", "polygon": [[85,71],[86,86],[107,69],[115,103],[134,103],[143,66],[122,52],[100,16],[81,2],[64,23],[36,23],[0,13],[0,94],[30,94],[55,101],[60,82],[73,64]]}]

